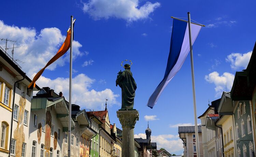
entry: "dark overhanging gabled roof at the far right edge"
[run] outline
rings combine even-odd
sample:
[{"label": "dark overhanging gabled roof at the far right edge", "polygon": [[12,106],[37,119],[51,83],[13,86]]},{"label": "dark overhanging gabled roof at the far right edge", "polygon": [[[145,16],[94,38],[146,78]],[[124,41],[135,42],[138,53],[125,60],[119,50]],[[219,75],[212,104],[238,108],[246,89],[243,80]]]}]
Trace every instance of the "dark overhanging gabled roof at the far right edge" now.
[{"label": "dark overhanging gabled roof at the far right edge", "polygon": [[245,70],[236,72],[231,89],[232,100],[252,100],[256,86],[256,42]]}]

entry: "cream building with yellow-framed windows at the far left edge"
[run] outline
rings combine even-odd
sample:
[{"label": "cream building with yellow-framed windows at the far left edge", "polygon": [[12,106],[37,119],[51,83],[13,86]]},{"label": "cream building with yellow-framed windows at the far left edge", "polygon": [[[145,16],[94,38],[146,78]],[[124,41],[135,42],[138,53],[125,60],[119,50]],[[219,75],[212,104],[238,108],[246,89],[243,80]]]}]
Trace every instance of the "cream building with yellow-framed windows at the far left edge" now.
[{"label": "cream building with yellow-framed windows at the far left edge", "polygon": [[36,86],[28,89],[30,78],[2,48],[0,49],[0,155],[7,157],[10,153],[11,156],[25,157],[28,151],[26,147],[32,93],[40,88]]}]

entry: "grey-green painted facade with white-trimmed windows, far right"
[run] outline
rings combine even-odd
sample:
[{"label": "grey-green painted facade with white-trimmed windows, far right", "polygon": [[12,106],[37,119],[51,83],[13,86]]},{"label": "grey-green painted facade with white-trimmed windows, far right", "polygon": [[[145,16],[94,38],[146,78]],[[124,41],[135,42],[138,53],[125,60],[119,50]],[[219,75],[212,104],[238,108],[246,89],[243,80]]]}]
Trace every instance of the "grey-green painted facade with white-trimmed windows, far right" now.
[{"label": "grey-green painted facade with white-trimmed windows, far right", "polygon": [[249,101],[238,101],[234,111],[235,141],[239,157],[252,157],[253,132]]}]

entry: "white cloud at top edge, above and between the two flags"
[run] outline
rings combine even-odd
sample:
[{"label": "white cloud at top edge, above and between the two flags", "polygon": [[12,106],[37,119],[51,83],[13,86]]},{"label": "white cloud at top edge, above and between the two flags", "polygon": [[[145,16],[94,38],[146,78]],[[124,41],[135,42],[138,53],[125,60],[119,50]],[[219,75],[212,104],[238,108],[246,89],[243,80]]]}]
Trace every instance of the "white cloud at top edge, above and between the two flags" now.
[{"label": "white cloud at top edge, above and between the two flags", "polygon": [[139,6],[139,0],[89,0],[82,3],[84,13],[94,20],[114,17],[125,19],[128,23],[148,18],[160,6],[158,2],[146,2]]}]

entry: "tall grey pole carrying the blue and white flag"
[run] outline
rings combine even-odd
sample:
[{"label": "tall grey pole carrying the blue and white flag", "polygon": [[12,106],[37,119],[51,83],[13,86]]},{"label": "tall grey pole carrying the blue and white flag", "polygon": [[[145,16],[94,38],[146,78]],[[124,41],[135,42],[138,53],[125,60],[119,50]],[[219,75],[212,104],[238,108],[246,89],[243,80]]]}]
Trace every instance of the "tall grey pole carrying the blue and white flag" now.
[{"label": "tall grey pole carrying the blue and white flag", "polygon": [[192,51],[192,39],[191,39],[191,27],[190,27],[190,13],[188,15],[188,31],[189,31],[189,46],[190,46],[190,63],[191,63],[191,76],[192,76],[192,89],[193,89],[193,104],[194,104],[194,119],[195,119],[195,133],[196,133],[196,152],[197,157],[199,154],[199,138],[197,130],[197,111],[196,111],[196,90],[195,90],[195,77],[194,77],[194,62],[193,62],[193,51]]}]

